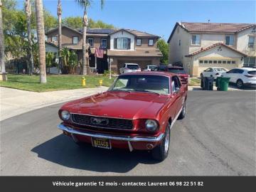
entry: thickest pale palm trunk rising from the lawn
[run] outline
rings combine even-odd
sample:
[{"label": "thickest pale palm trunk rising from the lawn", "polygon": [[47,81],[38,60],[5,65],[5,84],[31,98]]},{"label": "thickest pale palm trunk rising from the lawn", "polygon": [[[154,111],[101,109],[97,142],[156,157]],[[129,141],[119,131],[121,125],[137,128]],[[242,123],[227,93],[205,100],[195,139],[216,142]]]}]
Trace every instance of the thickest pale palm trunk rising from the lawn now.
[{"label": "thickest pale palm trunk rising from the lawn", "polygon": [[36,0],[36,29],[39,48],[40,82],[46,82],[46,45],[43,23],[43,2]]}]

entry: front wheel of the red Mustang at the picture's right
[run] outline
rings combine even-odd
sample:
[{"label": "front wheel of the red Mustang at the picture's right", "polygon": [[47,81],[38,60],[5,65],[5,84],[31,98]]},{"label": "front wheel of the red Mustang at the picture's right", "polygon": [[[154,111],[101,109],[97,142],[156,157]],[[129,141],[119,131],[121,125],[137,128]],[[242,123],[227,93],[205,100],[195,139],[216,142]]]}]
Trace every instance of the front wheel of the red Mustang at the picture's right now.
[{"label": "front wheel of the red Mustang at the picture's right", "polygon": [[164,159],[166,159],[166,157],[169,154],[169,145],[170,145],[170,138],[171,138],[170,127],[171,127],[171,124],[168,123],[166,126],[166,131],[164,133],[164,139],[162,139],[161,144],[156,146],[151,151],[151,155],[153,159],[156,159],[157,161],[164,161]]}]

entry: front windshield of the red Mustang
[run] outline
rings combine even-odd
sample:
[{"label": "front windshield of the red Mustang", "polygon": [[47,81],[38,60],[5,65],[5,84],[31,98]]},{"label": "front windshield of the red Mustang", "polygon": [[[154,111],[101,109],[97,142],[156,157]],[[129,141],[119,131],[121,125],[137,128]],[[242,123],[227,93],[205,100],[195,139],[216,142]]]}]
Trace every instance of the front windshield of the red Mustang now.
[{"label": "front windshield of the red Mustang", "polygon": [[169,78],[160,75],[121,75],[109,91],[169,94]]}]

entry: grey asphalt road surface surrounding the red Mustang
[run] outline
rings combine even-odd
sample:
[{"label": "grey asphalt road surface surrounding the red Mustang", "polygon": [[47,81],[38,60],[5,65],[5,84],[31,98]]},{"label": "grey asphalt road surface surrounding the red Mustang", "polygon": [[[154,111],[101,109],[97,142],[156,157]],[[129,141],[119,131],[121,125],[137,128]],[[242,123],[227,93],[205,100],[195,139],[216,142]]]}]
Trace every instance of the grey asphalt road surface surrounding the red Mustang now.
[{"label": "grey asphalt road surface surrounding the red Mustang", "polygon": [[1,175],[255,175],[255,92],[188,92],[187,114],[171,129],[169,157],[78,147],[56,128],[60,105],[1,122]]}]

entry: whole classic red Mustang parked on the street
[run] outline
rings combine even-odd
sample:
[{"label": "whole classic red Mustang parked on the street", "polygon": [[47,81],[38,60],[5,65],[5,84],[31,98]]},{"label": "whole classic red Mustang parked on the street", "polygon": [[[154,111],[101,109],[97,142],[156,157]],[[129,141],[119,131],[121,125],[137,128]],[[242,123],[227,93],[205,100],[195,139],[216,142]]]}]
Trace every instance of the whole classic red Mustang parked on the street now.
[{"label": "whole classic red Mustang parked on the street", "polygon": [[125,73],[107,92],[63,105],[58,128],[79,145],[150,150],[154,159],[163,161],[171,127],[185,117],[186,97],[186,86],[176,74]]}]

